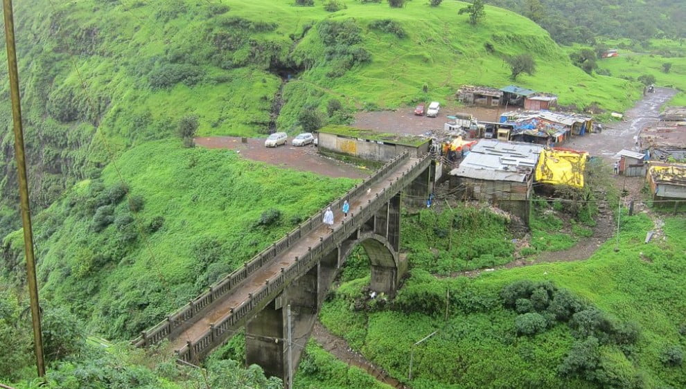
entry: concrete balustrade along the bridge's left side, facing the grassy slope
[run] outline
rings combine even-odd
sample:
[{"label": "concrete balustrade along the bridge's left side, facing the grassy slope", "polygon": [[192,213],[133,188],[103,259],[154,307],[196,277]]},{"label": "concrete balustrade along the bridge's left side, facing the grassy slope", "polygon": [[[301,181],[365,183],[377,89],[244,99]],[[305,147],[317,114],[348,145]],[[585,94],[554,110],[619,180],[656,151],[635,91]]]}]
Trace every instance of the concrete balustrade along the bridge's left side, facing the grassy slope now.
[{"label": "concrete balustrade along the bridge's left side, facing the grassy slope", "polygon": [[[398,165],[405,163],[409,159],[410,154],[407,152],[398,154],[392,160],[385,163],[379,170],[376,170],[376,172],[362,181],[360,185],[354,186],[351,190],[346,192],[346,194],[329,203],[328,206],[331,206],[331,209],[340,209],[343,205],[343,201],[358,197],[360,194],[364,193],[364,191],[371,188],[371,186],[378,183],[378,181],[384,179],[389,172],[393,172]],[[261,269],[264,264],[270,262],[274,257],[287,250],[311,230],[319,228],[319,226],[322,225],[322,218],[324,217],[325,210],[326,207],[304,221],[304,223],[300,224],[297,228],[291,230],[285,237],[282,237],[274,242],[274,244],[255,255],[252,260],[244,262],[244,266],[240,269],[236,269],[225,278],[222,278],[222,280],[212,284],[208,291],[202,293],[193,300],[190,300],[188,304],[167,316],[154,327],[141,332],[141,336],[135,338],[132,343],[136,347],[154,345],[164,338],[167,338],[175,331],[182,329],[182,327],[194,323],[194,319],[198,317],[198,314],[202,313],[202,310],[209,307],[212,302],[225,296],[229,291],[243,282],[243,280],[248,278],[249,275],[258,269]],[[200,316],[202,316],[202,314]]]}]

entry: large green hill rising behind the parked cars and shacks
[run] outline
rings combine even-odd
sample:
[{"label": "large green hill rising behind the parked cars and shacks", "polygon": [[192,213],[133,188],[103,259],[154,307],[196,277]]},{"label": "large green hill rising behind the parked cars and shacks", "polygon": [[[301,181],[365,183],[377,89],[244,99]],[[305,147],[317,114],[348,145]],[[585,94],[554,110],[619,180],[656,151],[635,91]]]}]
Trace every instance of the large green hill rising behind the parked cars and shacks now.
[{"label": "large green hill rising behind the parked cars and shacks", "polygon": [[[517,53],[538,64],[517,83],[558,93],[563,105],[623,111],[637,98],[637,84],[572,66],[528,19],[486,7],[471,26],[457,15],[464,5],[347,1],[332,13],[291,0],[21,1],[17,48],[35,203],[49,206],[129,147],[175,136],[186,116],[197,116],[202,136],[294,133],[302,111],[326,116],[334,98],[346,111],[393,109],[450,100],[465,83],[509,84],[503,59]],[[9,105],[0,109],[6,128]],[[11,137],[2,136],[4,234],[18,226],[5,217],[16,194]]]}]

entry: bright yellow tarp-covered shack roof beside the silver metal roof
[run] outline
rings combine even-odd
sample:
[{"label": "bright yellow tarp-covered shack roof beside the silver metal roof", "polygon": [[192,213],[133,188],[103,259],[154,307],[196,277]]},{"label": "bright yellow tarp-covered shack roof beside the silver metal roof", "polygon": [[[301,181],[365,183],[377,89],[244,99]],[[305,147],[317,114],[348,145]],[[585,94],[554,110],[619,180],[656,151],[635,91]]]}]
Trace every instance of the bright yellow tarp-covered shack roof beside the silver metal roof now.
[{"label": "bright yellow tarp-covered shack roof beside the silver metal roof", "polygon": [[587,152],[561,147],[543,150],[536,165],[536,181],[583,188],[583,171],[587,159]]}]

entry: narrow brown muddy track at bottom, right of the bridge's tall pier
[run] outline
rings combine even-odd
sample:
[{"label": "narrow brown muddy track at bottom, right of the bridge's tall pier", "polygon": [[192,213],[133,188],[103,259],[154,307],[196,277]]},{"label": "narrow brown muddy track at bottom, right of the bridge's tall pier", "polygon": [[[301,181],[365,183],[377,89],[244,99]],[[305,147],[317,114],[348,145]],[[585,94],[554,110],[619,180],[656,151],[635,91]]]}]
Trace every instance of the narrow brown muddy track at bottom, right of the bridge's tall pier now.
[{"label": "narrow brown muddy track at bottom, right of the bridge's tall pier", "polygon": [[362,354],[353,351],[344,338],[340,338],[339,336],[331,334],[331,332],[329,332],[328,329],[322,325],[322,323],[319,323],[319,320],[315,322],[315,327],[312,330],[312,336],[315,338],[315,341],[319,343],[319,345],[324,347],[324,350],[333,354],[333,356],[335,356],[339,361],[342,361],[349,366],[361,368],[369,373],[371,377],[374,377],[377,381],[392,386],[393,388],[408,388],[394,377],[391,377],[385,370],[378,368],[376,365],[365,359]]}]

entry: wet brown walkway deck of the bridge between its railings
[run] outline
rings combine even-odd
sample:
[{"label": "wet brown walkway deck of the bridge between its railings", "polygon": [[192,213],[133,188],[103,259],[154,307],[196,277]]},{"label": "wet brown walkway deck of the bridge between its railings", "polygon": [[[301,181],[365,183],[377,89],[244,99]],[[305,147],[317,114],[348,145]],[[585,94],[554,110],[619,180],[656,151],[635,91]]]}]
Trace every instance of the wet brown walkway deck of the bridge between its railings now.
[{"label": "wet brown walkway deck of the bridge between its railings", "polygon": [[[387,188],[390,183],[401,179],[410,170],[413,165],[418,163],[420,159],[410,158],[405,163],[398,165],[393,171],[389,172],[385,179],[373,183],[369,190],[362,192],[358,197],[349,199],[351,214],[360,212],[360,207],[369,203],[377,194],[382,192],[382,188]],[[342,210],[333,209],[334,213],[334,229],[342,228],[342,221],[344,215]],[[177,337],[171,339],[173,350],[179,350],[188,342],[195,343],[195,341],[206,334],[211,325],[220,322],[222,318],[227,316],[231,309],[238,309],[243,302],[249,300],[250,296],[254,296],[264,287],[265,281],[271,280],[281,273],[282,269],[288,269],[289,266],[295,263],[295,257],[302,257],[308,253],[308,247],[313,247],[320,242],[320,238],[331,234],[330,228],[322,224],[318,228],[311,230],[306,235],[303,235],[295,244],[287,250],[279,253],[270,262],[267,262],[260,269],[254,271],[249,275],[240,285],[237,285],[230,293],[222,298],[219,302],[214,302],[213,307],[210,307],[206,314],[202,316],[196,323],[185,329]]]}]

